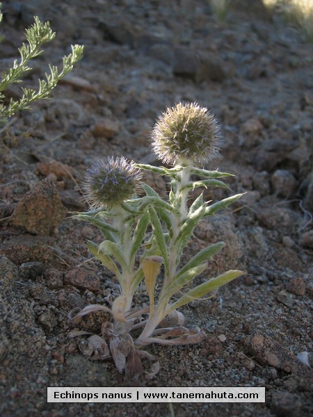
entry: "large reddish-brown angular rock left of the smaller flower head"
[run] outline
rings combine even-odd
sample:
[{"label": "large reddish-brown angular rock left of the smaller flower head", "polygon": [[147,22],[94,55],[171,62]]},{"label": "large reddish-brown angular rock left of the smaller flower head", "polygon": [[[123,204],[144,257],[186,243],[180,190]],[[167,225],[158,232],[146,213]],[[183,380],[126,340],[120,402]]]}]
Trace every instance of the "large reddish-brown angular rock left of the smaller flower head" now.
[{"label": "large reddish-brown angular rock left of the smaller flower head", "polygon": [[66,213],[54,183],[44,179],[35,184],[17,203],[13,224],[31,234],[49,236]]}]

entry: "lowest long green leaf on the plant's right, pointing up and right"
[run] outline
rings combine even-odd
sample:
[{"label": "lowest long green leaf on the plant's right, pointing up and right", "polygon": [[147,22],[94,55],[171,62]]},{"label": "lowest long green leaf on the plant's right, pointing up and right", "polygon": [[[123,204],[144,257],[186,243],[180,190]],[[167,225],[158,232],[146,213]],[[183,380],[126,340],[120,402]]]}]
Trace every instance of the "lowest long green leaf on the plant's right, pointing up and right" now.
[{"label": "lowest long green leaf on the plant's right, pointing up and right", "polygon": [[227,272],[224,272],[222,275],[218,275],[218,277],[209,279],[209,281],[196,286],[192,290],[188,291],[188,293],[180,297],[179,300],[177,300],[174,304],[171,304],[167,311],[167,314],[170,313],[170,311],[172,310],[178,309],[180,306],[184,306],[184,304],[187,304],[192,300],[200,299],[204,295],[211,293],[220,286],[227,284],[228,282],[232,281],[237,277],[240,277],[241,275],[244,275],[245,273],[246,272],[239,270],[229,270]]}]

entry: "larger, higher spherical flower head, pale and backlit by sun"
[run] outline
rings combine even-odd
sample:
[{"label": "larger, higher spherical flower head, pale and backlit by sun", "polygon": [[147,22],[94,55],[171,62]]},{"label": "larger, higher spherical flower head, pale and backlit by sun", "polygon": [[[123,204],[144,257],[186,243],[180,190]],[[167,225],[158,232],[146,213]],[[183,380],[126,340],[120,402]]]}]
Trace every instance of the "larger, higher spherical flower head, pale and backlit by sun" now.
[{"label": "larger, higher spherical flower head, pale and backlit by sun", "polygon": [[152,147],[164,163],[204,165],[220,149],[220,128],[207,108],[179,103],[167,108],[152,129]]}]

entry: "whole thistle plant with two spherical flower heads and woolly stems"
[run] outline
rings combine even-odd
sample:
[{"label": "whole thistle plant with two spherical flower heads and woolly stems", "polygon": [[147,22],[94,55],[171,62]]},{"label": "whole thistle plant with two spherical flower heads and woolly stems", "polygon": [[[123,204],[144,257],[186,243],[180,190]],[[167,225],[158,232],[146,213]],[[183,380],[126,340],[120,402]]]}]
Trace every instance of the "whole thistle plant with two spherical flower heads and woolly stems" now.
[{"label": "whole thistle plant with two spherical flower heads and woolly stems", "polygon": [[[106,311],[109,318],[102,324],[101,334],[90,335],[75,329],[70,336],[87,334],[93,352],[91,359],[113,357],[119,372],[131,378],[143,373],[142,357],[154,361],[147,377],[153,377],[159,370],[159,362],[143,350],[146,345],[202,341],[204,332],[187,329],[185,318],[177,309],[243,275],[240,270],[229,270],[192,286],[195,277],[207,270],[209,261],[225,246],[223,242],[204,248],[185,265],[181,262],[184,248],[200,220],[241,197],[237,194],[208,204],[201,193],[187,206],[191,190],[225,188],[221,179],[231,175],[200,167],[220,147],[220,129],[213,115],[195,103],[168,108],[154,125],[152,147],[161,161],[173,166],[156,167],[123,157],[106,157],[93,163],[83,183],[91,210],[75,216],[102,231],[104,241],[99,245],[88,241],[88,250],[118,279],[120,295],[115,300],[109,297],[106,306],[93,304],[81,311],[74,309],[70,313],[74,324],[93,311]],[[168,201],[142,181],[142,170],[170,179]],[[194,181],[192,176],[200,179]],[[143,197],[136,195],[139,187],[145,193]],[[161,285],[157,285],[159,276]],[[143,283],[149,303],[136,305],[134,295],[139,286],[144,288]]]}]

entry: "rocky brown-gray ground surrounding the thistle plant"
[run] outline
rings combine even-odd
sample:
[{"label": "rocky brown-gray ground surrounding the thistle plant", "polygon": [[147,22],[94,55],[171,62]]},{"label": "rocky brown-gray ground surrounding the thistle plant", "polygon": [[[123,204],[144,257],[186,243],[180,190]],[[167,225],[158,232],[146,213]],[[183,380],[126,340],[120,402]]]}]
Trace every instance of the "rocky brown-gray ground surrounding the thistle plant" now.
[{"label": "rocky brown-gray ground surrounding the thistle plant", "polygon": [[[33,15],[57,33],[26,85],[70,44],[85,54],[53,100],[1,130],[1,416],[169,415],[166,404],[47,404],[46,387],[127,386],[111,361],[90,361],[68,338],[70,310],[115,291],[84,244],[99,241],[98,231],[70,213],[86,208],[80,181],[90,161],[157,163],[152,123],[182,100],[216,114],[225,142],[211,168],[236,174],[232,193],[248,192],[198,226],[186,258],[224,240],[208,276],[247,274],[182,310],[207,338],[149,347],[161,370],[143,383],[266,386],[266,404],[175,404],[177,417],[312,416],[312,370],[297,358],[307,352],[312,366],[312,45],[258,1],[233,1],[227,22],[216,22],[206,0],[12,0],[3,12],[1,70]],[[19,97],[19,85],[8,94]],[[166,195],[163,179],[148,181]]]}]

